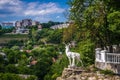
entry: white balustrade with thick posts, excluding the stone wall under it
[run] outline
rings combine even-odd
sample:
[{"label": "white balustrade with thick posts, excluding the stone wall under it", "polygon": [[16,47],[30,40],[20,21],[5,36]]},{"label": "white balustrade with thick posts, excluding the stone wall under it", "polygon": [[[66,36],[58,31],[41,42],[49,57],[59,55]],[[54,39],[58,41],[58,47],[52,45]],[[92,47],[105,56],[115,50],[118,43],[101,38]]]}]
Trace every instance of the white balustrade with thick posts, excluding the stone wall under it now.
[{"label": "white balustrade with thick posts, excluding the stone wall under it", "polygon": [[96,48],[96,61],[120,64],[120,45],[112,45],[102,48]]}]

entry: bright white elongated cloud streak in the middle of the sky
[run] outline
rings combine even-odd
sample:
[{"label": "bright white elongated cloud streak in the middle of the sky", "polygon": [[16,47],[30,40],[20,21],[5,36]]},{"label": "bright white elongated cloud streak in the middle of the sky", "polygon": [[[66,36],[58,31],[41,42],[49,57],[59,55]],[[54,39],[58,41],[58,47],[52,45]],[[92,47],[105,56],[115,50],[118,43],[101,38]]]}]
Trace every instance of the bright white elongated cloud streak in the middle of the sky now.
[{"label": "bright white elongated cloud streak in the middle of the sky", "polygon": [[[31,5],[32,7],[29,7]],[[48,14],[55,14],[55,13],[62,13],[64,9],[59,8],[55,3],[44,3],[39,6],[36,6],[38,3],[30,3],[28,4],[28,9],[24,12],[25,15],[48,15]]]}]

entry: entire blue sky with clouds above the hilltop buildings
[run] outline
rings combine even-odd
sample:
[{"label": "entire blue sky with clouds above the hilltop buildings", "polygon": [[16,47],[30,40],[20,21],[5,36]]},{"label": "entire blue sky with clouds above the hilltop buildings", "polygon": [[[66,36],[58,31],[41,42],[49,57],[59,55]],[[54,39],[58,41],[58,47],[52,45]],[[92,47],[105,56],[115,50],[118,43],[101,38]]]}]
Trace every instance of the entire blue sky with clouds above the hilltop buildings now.
[{"label": "entire blue sky with clouds above the hilltop buildings", "polygon": [[65,22],[67,0],[0,0],[0,22],[32,19],[41,23]]}]

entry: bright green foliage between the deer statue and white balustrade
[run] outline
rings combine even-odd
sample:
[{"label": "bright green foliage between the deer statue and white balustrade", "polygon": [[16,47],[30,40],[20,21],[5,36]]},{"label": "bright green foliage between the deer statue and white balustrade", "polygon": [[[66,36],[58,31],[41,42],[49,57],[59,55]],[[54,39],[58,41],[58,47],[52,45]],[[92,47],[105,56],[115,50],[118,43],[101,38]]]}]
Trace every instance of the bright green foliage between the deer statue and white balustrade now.
[{"label": "bright green foliage between the deer statue and white balustrade", "polygon": [[94,45],[95,44],[90,39],[81,41],[78,44],[79,46],[78,50],[81,54],[81,59],[83,61],[84,66],[89,66],[94,63],[95,59]]}]

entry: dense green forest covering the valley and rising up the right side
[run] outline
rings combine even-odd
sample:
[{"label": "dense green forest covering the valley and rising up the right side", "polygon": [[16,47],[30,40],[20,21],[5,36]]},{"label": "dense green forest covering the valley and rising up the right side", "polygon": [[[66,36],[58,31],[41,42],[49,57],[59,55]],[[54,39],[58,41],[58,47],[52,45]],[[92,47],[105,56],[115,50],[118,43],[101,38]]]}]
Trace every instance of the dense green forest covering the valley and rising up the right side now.
[{"label": "dense green forest covering the valley and rising up the right side", "polygon": [[5,59],[0,55],[0,80],[24,80],[17,74],[34,75],[27,80],[56,80],[68,65],[64,43],[73,41],[75,47],[71,51],[81,54],[84,67],[94,64],[95,48],[120,44],[119,3],[119,0],[68,0],[68,28],[50,29],[46,26],[59,24],[50,21],[42,24],[45,27],[40,31],[31,28],[29,39],[22,46],[13,42],[14,45],[0,49],[7,56]]}]

